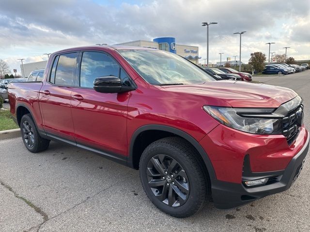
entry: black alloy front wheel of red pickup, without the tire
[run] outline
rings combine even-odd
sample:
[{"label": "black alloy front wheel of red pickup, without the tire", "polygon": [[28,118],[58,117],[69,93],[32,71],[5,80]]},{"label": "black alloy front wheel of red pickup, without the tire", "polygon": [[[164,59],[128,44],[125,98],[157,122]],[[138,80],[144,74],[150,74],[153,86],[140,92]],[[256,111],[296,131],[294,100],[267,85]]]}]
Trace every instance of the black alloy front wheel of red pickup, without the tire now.
[{"label": "black alloy front wheel of red pickup, without the tire", "polygon": [[189,182],[184,168],[170,156],[159,154],[147,164],[148,185],[155,197],[172,207],[186,203]]}]

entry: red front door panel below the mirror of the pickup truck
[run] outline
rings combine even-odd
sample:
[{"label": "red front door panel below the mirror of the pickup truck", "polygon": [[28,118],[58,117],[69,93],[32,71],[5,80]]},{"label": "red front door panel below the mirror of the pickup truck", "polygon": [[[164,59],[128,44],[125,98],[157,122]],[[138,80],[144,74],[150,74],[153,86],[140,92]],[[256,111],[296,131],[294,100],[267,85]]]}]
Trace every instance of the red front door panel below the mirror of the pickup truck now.
[{"label": "red front door panel below the mirror of the pickup truck", "polygon": [[78,144],[127,155],[127,104],[130,93],[99,93],[73,88],[72,118]]}]

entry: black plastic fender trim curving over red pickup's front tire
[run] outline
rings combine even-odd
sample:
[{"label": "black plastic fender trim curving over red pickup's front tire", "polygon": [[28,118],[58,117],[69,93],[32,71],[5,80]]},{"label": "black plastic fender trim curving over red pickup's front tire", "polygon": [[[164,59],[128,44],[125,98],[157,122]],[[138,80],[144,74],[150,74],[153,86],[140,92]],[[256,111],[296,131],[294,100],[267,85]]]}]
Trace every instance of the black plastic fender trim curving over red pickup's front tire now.
[{"label": "black plastic fender trim curving over red pickup's front tire", "polygon": [[188,133],[181,131],[179,129],[176,129],[174,127],[158,125],[158,124],[149,124],[149,125],[141,126],[140,128],[138,128],[133,133],[133,135],[131,136],[131,140],[130,140],[129,155],[127,157],[127,166],[134,168],[133,149],[134,149],[135,141],[141,132],[149,131],[149,130],[167,131],[167,132],[176,134],[176,135],[184,138],[185,140],[187,140],[191,145],[193,145],[196,148],[196,150],[199,152],[200,156],[202,157],[202,160],[204,161],[204,164],[207,167],[207,171],[209,173],[211,182],[213,180],[216,180],[216,174],[214,172],[213,165],[212,165],[207,153],[204,151],[204,149],[202,148],[202,146],[199,144],[199,142],[196,139],[194,139]]}]

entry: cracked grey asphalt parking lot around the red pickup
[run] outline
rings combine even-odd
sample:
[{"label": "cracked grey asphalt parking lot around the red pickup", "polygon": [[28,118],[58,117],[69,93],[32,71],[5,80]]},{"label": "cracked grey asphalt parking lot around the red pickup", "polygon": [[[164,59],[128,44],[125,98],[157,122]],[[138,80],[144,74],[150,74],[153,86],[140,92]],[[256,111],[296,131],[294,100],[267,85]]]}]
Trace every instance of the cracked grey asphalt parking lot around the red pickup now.
[{"label": "cracked grey asphalt parking lot around the red pickup", "polygon": [[[310,70],[253,79],[299,93],[310,129]],[[21,138],[1,140],[0,182],[0,232],[310,231],[309,158],[285,192],[232,210],[209,203],[183,219],[148,200],[138,171],[54,142],[32,154]]]}]

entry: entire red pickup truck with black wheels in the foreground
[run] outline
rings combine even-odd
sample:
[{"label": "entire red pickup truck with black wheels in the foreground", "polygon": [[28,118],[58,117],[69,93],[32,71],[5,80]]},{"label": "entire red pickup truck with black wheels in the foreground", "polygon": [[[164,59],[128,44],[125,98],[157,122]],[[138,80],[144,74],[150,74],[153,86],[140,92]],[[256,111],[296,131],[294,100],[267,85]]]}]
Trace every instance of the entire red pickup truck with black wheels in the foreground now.
[{"label": "entire red pickup truck with black wheels in the foreground", "polygon": [[211,197],[227,209],[290,188],[309,148],[293,90],[216,80],[156,49],[55,52],[42,81],[8,93],[29,151],[56,140],[139,169],[149,199],[174,217]]}]

